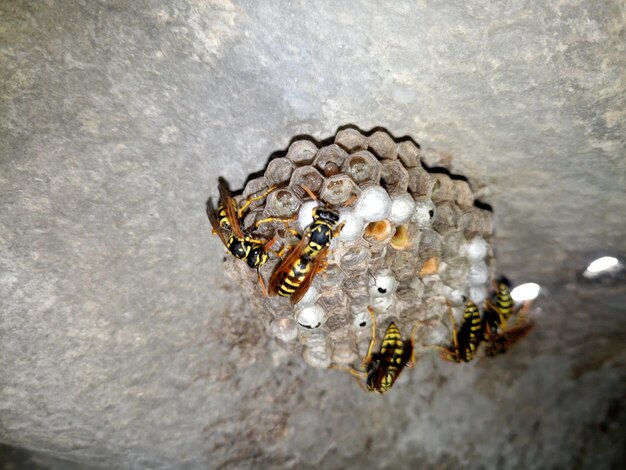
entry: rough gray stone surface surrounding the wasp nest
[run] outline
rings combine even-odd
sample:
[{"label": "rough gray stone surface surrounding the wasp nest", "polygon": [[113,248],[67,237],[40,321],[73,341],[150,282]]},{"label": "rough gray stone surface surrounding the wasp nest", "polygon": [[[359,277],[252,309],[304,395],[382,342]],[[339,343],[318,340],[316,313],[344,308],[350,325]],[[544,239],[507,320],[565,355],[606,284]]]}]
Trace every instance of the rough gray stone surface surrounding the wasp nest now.
[{"label": "rough gray stone surface surrounding the wasp nest", "polygon": [[[623,2],[0,4],[0,440],[107,468],[617,468]],[[294,136],[410,135],[485,184],[533,336],[386,396],[271,344],[204,203]],[[437,163],[439,162],[439,163]],[[39,454],[38,454],[39,455]],[[56,464],[51,464],[51,466]]]}]

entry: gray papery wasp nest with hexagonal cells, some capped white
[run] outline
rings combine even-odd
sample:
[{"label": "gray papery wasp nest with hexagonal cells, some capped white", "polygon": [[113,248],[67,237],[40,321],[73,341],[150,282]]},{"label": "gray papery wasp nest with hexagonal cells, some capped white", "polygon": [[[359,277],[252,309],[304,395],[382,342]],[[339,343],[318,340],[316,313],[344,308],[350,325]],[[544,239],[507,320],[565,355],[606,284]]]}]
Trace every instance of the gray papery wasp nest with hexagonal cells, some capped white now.
[{"label": "gray papery wasp nest with hexagonal cells, some capped white", "polygon": [[[429,170],[423,164],[427,158],[411,141],[346,129],[322,148],[293,142],[239,197],[279,185],[266,200],[252,204],[244,220],[248,228],[265,217],[293,216],[290,226],[302,233],[316,204],[302,185],[345,221],[326,269],[295,306],[288,298],[263,297],[257,273],[231,256],[227,260],[227,271],[267,333],[310,365],[361,360],[371,336],[368,306],[375,311],[379,335],[392,319],[406,338],[419,324],[419,353],[420,345],[450,342],[443,326],[449,322],[446,302],[458,319],[465,297],[477,304],[485,299],[492,278],[492,214],[475,205],[464,178]],[[263,239],[276,235],[272,250],[298,241],[280,222],[253,233]],[[266,283],[279,261],[272,255],[261,269]]]}]

